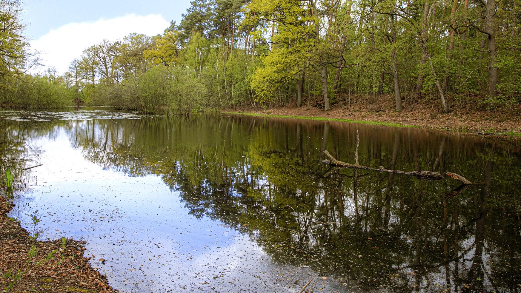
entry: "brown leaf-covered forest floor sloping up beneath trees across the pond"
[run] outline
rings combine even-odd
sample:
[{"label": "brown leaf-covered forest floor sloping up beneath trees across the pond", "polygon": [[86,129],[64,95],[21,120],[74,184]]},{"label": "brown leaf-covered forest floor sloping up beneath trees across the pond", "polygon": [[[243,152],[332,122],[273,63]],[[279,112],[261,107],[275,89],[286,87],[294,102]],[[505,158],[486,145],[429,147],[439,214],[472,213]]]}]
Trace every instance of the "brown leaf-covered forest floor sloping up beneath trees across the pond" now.
[{"label": "brown leaf-covered forest floor sloping up beneath trees across the pond", "polygon": [[[344,100],[344,98],[342,98]],[[500,109],[487,111],[477,103],[468,103],[464,106],[453,105],[450,113],[444,114],[439,105],[431,101],[413,104],[412,111],[404,101],[403,110],[396,111],[394,96],[381,96],[375,103],[368,103],[368,99],[351,103],[349,110],[345,108],[345,101],[324,111],[322,101],[317,101],[313,107],[311,100],[307,110],[307,99],[302,106],[296,107],[296,100],[284,106],[270,106],[263,109],[257,105],[253,107],[229,108],[222,112],[256,114],[260,116],[277,116],[288,118],[342,120],[348,122],[377,123],[392,126],[416,126],[448,130],[463,130],[480,133],[521,133],[521,105],[514,105],[512,109],[505,106]],[[321,106],[321,107],[320,107]]]}]

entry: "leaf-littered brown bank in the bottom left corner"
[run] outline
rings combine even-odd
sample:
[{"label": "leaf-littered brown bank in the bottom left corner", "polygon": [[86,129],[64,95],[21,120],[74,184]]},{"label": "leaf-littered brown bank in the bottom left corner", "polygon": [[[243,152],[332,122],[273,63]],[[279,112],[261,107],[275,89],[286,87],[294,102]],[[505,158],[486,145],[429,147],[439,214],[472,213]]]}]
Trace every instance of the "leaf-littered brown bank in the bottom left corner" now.
[{"label": "leaf-littered brown bank in the bottom left corner", "polygon": [[0,291],[117,292],[83,257],[83,241],[33,240],[7,216],[13,207],[0,196]]}]

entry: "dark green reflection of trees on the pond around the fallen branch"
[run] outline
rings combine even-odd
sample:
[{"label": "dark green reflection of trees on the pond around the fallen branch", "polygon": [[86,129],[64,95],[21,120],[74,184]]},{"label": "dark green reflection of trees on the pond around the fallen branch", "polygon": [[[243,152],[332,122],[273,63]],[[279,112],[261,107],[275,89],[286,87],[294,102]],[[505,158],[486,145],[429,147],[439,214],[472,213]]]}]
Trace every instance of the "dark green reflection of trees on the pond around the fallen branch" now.
[{"label": "dark green reflection of trees on the pond around the fallen branch", "polygon": [[[190,213],[254,235],[277,261],[366,288],[519,289],[518,143],[245,117],[72,123],[71,141],[86,158],[162,176]],[[477,184],[444,200],[456,182],[328,170],[325,149],[354,161],[356,130],[365,165],[455,171]]]}]

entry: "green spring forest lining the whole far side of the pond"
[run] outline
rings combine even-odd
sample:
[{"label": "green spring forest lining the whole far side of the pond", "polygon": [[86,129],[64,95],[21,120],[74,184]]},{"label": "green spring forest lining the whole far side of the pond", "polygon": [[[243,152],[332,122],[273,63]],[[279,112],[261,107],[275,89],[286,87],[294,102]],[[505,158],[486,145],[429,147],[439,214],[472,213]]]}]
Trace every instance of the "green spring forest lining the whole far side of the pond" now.
[{"label": "green spring forest lining the whole far side of the pond", "polygon": [[38,65],[21,2],[2,0],[0,103],[141,112],[297,107],[392,96],[412,111],[514,107],[521,90],[516,0],[195,0],[163,34],[104,40],[59,75]]}]

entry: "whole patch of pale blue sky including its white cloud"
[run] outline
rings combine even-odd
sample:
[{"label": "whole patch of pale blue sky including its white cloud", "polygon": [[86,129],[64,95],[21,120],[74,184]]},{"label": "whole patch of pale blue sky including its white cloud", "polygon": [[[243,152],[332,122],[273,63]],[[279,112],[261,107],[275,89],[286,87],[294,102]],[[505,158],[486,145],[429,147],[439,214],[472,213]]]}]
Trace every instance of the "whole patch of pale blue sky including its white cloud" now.
[{"label": "whole patch of pale blue sky including its white cloud", "polygon": [[25,0],[22,18],[31,46],[44,53],[42,63],[63,73],[85,47],[134,32],[160,34],[188,7],[189,0]]}]

